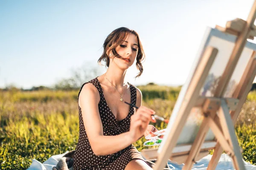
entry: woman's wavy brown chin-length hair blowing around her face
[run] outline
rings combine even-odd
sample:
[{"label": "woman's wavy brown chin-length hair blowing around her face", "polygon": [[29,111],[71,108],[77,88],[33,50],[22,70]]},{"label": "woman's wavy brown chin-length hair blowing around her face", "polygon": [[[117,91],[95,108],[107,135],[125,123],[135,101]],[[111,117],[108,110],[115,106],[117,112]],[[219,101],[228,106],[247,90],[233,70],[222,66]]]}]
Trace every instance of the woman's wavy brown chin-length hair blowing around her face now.
[{"label": "woman's wavy brown chin-length hair blowing around her face", "polygon": [[140,75],[143,72],[143,66],[141,62],[145,59],[145,53],[143,50],[143,46],[140,42],[139,34],[132,29],[120,27],[112,31],[104,41],[104,44],[103,44],[104,51],[102,56],[98,59],[98,63],[101,64],[101,61],[103,60],[105,62],[105,66],[109,67],[109,61],[110,61],[109,54],[111,54],[111,56],[113,57],[120,58],[121,56],[117,54],[115,48],[118,45],[122,44],[122,41],[125,40],[128,33],[134,34],[138,39],[138,53],[136,57],[136,67],[140,72],[135,77],[137,78],[137,77],[140,77]]}]

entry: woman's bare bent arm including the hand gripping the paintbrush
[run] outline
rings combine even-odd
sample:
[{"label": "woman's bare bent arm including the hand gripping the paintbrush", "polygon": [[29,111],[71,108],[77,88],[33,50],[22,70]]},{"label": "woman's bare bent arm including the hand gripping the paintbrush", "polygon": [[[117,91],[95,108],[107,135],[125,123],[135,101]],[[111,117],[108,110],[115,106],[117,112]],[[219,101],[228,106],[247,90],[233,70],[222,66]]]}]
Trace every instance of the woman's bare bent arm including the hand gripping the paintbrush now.
[{"label": "woman's bare bent arm including the hand gripping the paintbrush", "polygon": [[137,141],[151,120],[154,112],[146,107],[137,110],[137,115],[131,116],[130,131],[116,136],[103,136],[102,121],[99,115],[98,103],[100,101],[99,91],[91,83],[83,86],[80,92],[80,107],[90,145],[93,153],[99,155],[109,155],[128,147]]}]

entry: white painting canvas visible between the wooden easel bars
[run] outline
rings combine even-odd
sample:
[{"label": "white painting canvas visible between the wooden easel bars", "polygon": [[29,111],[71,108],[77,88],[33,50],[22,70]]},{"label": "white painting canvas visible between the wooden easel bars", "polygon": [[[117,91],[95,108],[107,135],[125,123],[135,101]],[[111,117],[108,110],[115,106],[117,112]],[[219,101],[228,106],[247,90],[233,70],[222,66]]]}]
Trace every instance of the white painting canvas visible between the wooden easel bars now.
[{"label": "white painting canvas visible between the wooden easel bars", "polygon": [[[160,144],[160,147],[158,148],[157,152],[160,153],[162,151],[163,145],[166,142],[166,136],[169,135],[172,125],[176,120],[177,113],[180,110],[180,106],[183,102],[184,96],[186,94],[186,91],[189,87],[189,84],[192,80],[193,75],[195,74],[195,71],[197,69],[198,63],[201,60],[202,55],[204,54],[204,50],[208,45],[213,46],[218,49],[218,54],[215,58],[215,61],[213,62],[213,65],[211,69],[209,70],[209,75],[200,91],[201,96],[212,96],[212,93],[214,93],[214,89],[206,88],[205,86],[209,85],[209,87],[212,86],[212,82],[216,79],[216,77],[220,76],[228,62],[228,59],[230,57],[230,54],[232,53],[233,47],[235,45],[236,36],[223,33],[215,28],[207,28],[201,43],[201,46],[198,50],[198,54],[195,57],[194,63],[192,65],[191,71],[189,72],[189,76],[186,79],[185,84],[181,88],[180,94],[177,98],[177,102],[175,104],[175,107],[172,111],[172,115],[169,119],[169,124],[167,126],[166,135],[163,138],[163,142]],[[247,65],[247,62],[252,54],[253,51],[256,51],[256,44],[253,44],[251,42],[246,43],[244,50],[241,54],[241,57],[239,59],[238,64],[236,65],[236,69],[233,73],[233,76],[231,77],[231,83],[227,87],[227,91],[225,92],[226,96],[232,96],[233,94],[233,88],[236,87],[237,84],[234,84],[234,81],[237,83],[241,79],[242,72],[244,71],[245,66]],[[240,72],[239,72],[240,71]],[[213,84],[214,85],[214,84]],[[216,85],[216,83],[215,83]],[[231,88],[230,88],[231,87]],[[180,136],[177,140],[177,144],[188,144],[193,143],[195,140],[195,137],[198,133],[199,127],[201,125],[201,122],[203,120],[203,116],[201,116],[200,111],[198,111],[198,108],[193,108],[185,126],[183,127],[182,132],[180,133]],[[206,136],[206,141],[213,140],[215,138],[214,134],[211,130],[208,131]]]}]

